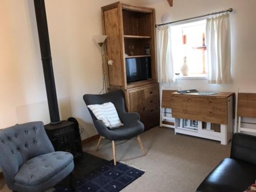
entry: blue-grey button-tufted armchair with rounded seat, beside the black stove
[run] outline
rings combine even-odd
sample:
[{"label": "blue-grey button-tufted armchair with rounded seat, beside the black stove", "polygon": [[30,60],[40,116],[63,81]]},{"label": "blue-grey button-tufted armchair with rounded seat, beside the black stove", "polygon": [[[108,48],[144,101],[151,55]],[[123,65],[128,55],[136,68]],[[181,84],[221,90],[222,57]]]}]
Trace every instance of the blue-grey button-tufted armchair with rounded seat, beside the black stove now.
[{"label": "blue-grey button-tufted armchair with rounded seat, beside the black stove", "polygon": [[42,122],[0,131],[0,166],[13,191],[45,191],[74,169],[73,155],[54,152]]}]

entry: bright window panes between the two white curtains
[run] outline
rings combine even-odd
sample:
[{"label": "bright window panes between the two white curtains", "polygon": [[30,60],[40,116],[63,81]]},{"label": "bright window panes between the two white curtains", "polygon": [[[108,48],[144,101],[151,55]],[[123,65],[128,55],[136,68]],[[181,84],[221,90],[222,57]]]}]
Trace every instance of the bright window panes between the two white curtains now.
[{"label": "bright window panes between the two white curtains", "polygon": [[176,74],[182,76],[181,67],[186,57],[188,76],[207,75],[205,28],[206,20],[172,26],[172,50]]}]

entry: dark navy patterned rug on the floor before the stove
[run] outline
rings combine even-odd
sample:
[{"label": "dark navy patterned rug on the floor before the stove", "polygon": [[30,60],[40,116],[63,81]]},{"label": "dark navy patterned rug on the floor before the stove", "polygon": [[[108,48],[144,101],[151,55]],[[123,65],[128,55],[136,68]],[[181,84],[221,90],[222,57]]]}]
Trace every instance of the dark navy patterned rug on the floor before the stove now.
[{"label": "dark navy patterned rug on the floor before the stove", "polygon": [[[92,156],[93,158],[95,156]],[[97,158],[97,157],[95,157]],[[120,191],[137,178],[142,176],[144,172],[123,163],[117,163],[114,166],[112,161],[100,161],[96,169],[91,173],[82,173],[82,168],[75,168],[75,192],[95,191],[95,192],[116,192]],[[94,167],[95,168],[95,167]],[[78,169],[78,172],[77,170]],[[80,171],[79,171],[80,170]],[[54,192],[74,192],[67,184],[59,186]]]}]

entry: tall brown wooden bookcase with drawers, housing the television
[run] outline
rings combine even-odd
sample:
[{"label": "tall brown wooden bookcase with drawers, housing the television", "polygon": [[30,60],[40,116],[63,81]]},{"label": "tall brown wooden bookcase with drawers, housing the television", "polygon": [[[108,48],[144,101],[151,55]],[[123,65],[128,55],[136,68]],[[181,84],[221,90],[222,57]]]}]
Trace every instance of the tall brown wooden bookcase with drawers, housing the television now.
[{"label": "tall brown wooden bookcase with drawers, housing the television", "polygon": [[[159,124],[159,86],[155,50],[155,10],[116,2],[101,8],[108,66],[108,90],[122,89],[129,112],[138,112],[145,129]],[[145,53],[150,46],[150,54]],[[152,78],[127,83],[125,58],[150,57]]]}]

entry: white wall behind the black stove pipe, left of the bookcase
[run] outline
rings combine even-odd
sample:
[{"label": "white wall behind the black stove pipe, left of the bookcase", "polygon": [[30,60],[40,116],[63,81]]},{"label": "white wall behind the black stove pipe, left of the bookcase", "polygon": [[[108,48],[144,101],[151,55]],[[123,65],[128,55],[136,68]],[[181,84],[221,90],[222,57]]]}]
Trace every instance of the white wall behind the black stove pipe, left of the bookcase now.
[{"label": "white wall behind the black stove pipe, left of the bookcase", "polygon": [[[82,138],[97,134],[82,96],[102,89],[101,53],[93,36],[102,34],[100,7],[114,2],[46,0],[60,116],[77,118]],[[1,0],[0,24],[0,129],[49,123],[33,0]]]}]

